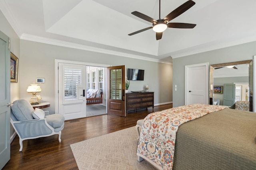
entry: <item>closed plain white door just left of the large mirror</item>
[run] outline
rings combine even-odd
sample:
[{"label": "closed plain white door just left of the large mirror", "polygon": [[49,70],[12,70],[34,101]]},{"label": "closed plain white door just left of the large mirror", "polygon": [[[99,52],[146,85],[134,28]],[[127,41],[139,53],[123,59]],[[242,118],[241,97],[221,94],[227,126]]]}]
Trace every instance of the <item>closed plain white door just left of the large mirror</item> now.
[{"label": "closed plain white door just left of the large mirror", "polygon": [[185,105],[208,104],[209,63],[185,66]]}]

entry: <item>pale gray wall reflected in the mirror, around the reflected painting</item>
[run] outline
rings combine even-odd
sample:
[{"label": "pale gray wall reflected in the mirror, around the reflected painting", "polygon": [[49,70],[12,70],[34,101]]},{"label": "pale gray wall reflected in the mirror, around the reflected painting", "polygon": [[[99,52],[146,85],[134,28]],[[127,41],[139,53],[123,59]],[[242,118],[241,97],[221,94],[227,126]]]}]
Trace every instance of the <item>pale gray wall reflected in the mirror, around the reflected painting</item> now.
[{"label": "pale gray wall reflected in the mirror, around the reflected painting", "polygon": [[214,94],[214,99],[220,99],[220,105],[223,104],[224,99],[224,84],[234,84],[234,82],[247,82],[249,84],[249,77],[222,77],[222,78],[214,78],[213,80],[214,86],[223,86],[222,94]]}]

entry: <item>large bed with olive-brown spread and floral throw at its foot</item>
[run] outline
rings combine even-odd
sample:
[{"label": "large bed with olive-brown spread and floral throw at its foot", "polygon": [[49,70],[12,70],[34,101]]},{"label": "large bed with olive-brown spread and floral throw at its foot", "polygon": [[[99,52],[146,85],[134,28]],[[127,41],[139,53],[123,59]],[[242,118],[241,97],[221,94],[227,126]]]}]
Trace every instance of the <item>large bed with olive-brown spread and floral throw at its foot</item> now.
[{"label": "large bed with olive-brown spread and floral throw at its foot", "polygon": [[[256,113],[218,105],[190,107],[194,108],[175,107],[149,114],[142,124],[138,159],[168,170],[256,169]],[[192,120],[191,110],[198,118]],[[169,114],[180,112],[188,115],[178,119],[188,121],[178,125]]]}]

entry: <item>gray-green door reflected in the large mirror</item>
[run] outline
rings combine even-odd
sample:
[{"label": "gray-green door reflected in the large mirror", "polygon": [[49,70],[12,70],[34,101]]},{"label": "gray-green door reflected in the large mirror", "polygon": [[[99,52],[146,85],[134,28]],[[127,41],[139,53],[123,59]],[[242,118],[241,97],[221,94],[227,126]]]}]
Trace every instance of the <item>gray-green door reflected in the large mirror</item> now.
[{"label": "gray-green door reflected in the large mirror", "polygon": [[232,106],[235,103],[235,84],[224,84],[223,106]]}]

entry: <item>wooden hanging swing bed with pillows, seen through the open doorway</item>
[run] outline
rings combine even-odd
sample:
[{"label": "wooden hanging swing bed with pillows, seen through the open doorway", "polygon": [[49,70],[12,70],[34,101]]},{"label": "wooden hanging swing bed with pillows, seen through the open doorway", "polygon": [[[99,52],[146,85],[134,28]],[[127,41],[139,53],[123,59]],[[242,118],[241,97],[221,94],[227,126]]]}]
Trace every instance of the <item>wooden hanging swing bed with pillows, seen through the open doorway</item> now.
[{"label": "wooden hanging swing bed with pillows, seen through the open doorway", "polygon": [[98,89],[88,89],[86,91],[86,105],[102,104],[102,91]]}]

